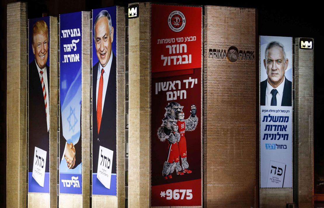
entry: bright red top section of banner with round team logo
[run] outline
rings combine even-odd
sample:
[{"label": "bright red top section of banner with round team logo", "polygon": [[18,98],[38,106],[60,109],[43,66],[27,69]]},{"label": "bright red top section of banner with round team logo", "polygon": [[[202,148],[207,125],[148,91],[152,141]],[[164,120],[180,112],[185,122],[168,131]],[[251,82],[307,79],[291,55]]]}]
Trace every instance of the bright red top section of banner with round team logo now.
[{"label": "bright red top section of banner with round team logo", "polygon": [[152,73],[201,68],[202,8],[152,5]]}]

